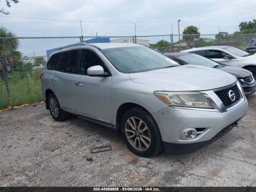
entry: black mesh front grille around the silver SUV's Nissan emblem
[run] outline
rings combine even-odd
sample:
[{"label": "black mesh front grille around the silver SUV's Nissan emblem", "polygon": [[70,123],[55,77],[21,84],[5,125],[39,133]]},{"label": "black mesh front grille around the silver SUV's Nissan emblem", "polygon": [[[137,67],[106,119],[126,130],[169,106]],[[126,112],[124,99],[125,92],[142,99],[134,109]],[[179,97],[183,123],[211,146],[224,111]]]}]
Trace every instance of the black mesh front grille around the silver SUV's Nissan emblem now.
[{"label": "black mesh front grille around the silver SUV's Nissan emblem", "polygon": [[[232,101],[228,96],[228,92],[230,90],[232,90],[236,96],[236,99],[234,101]],[[233,105],[234,103],[236,103],[237,101],[240,100],[240,91],[239,91],[237,85],[234,85],[234,86],[224,89],[224,90],[216,91],[215,93],[220,98],[220,100],[222,101],[222,103],[224,104],[224,106],[226,108],[230,107],[231,105]]]}]

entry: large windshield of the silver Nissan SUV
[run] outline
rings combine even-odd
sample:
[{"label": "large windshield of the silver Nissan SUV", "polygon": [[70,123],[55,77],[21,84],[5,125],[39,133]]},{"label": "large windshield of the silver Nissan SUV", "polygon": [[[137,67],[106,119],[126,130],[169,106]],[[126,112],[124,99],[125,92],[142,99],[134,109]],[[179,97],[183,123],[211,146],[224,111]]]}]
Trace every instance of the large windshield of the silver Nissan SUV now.
[{"label": "large windshield of the silver Nissan SUV", "polygon": [[112,65],[123,73],[162,69],[179,64],[146,46],[130,46],[100,50]]}]

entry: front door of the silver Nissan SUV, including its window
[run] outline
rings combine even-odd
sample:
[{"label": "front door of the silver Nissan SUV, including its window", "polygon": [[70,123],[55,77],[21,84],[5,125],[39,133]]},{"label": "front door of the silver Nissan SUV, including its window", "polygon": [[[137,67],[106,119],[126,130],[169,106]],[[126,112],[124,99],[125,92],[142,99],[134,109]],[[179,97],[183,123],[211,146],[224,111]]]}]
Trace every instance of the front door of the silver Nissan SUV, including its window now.
[{"label": "front door of the silver Nissan SUV, including its window", "polygon": [[104,62],[93,50],[82,49],[79,74],[75,77],[76,110],[78,114],[111,123],[112,77],[89,76],[87,69],[96,65],[108,71]]}]

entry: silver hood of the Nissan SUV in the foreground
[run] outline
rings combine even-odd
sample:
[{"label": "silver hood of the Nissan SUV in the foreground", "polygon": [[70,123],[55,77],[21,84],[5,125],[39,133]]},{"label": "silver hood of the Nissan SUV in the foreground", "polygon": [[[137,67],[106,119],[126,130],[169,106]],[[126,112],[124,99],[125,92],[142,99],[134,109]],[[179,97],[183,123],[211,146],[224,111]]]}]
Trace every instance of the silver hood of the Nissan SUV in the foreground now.
[{"label": "silver hood of the Nissan SUV in the foreground", "polygon": [[228,86],[236,77],[218,69],[187,64],[171,68],[132,73],[130,79],[166,91],[202,91]]}]

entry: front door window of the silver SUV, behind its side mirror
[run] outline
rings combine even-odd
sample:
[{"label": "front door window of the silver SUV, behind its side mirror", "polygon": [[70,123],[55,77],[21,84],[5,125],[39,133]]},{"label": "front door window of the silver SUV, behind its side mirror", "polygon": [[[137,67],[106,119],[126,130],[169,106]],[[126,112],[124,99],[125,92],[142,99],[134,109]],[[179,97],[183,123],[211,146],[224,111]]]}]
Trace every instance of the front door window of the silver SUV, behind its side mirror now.
[{"label": "front door window of the silver SUV, behind its side mirror", "polygon": [[104,62],[92,51],[82,50],[80,58],[80,74],[87,75],[87,69],[100,65],[103,67],[104,71],[107,71]]}]

